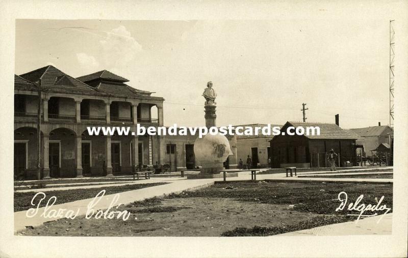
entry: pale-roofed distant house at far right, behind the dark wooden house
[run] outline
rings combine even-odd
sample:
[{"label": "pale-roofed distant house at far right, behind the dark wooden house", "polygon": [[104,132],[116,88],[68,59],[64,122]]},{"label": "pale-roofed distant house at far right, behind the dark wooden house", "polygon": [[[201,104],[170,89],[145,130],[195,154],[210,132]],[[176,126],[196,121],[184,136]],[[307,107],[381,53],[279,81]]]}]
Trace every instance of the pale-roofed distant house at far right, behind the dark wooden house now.
[{"label": "pale-roofed distant house at far right, behind the dark wooden house", "polygon": [[365,128],[350,129],[358,134],[364,140],[364,151],[366,157],[371,157],[371,151],[376,154],[376,149],[381,144],[390,146],[390,138],[393,137],[394,131],[389,126],[370,126]]}]

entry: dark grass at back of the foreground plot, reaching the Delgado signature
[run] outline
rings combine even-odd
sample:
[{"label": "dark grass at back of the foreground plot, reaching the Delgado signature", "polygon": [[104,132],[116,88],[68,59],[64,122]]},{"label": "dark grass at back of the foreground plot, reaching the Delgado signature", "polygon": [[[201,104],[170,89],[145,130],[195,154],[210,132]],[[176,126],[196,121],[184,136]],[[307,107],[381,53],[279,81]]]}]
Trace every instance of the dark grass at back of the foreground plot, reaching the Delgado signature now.
[{"label": "dark grass at back of the foreground plot, reaching the Delgado signature", "polygon": [[[224,197],[244,202],[294,205],[293,209],[299,212],[345,215],[347,209],[336,212],[336,208],[340,205],[338,200],[340,192],[347,193],[348,202],[354,202],[361,194],[364,194],[361,203],[372,205],[376,204],[375,197],[380,199],[384,195],[382,204],[392,208],[392,189],[390,184],[233,182],[215,184],[196,191],[172,193],[166,198]],[[367,211],[365,214],[373,213]]]}]

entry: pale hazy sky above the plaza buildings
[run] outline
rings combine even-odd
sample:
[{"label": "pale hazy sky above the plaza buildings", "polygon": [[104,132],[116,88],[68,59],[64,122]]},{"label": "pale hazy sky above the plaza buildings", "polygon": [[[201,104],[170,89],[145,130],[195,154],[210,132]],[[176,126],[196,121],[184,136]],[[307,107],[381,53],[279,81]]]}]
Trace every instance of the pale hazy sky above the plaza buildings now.
[{"label": "pale hazy sky above the plaza buildings", "polygon": [[164,124],[389,123],[389,20],[16,20],[15,73],[108,70],[164,101]]}]

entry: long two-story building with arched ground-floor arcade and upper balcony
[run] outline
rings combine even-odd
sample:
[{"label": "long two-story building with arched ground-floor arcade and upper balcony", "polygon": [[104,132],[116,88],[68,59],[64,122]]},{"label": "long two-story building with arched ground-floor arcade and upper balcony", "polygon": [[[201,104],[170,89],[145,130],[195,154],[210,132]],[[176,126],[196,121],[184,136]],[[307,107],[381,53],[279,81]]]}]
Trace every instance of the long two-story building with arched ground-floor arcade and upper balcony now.
[{"label": "long two-story building with arched ground-floor arcade and upper balcony", "polygon": [[53,66],[15,75],[14,173],[35,178],[41,85],[43,178],[113,175],[165,162],[163,136],[90,136],[88,126],[162,126],[163,101],[109,71],[73,78]]}]

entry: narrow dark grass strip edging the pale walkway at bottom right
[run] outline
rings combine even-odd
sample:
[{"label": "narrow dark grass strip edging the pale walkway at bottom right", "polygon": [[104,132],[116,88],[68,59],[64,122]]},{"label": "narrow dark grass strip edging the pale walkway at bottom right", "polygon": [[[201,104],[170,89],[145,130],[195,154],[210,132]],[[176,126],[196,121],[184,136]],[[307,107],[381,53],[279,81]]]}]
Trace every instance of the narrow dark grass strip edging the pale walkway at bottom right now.
[{"label": "narrow dark grass strip edging the pale walkway at bottom right", "polygon": [[225,231],[221,234],[221,237],[263,237],[263,236],[273,236],[278,234],[283,234],[287,232],[307,230],[309,228],[324,226],[334,223],[341,223],[352,220],[346,216],[325,216],[325,217],[315,217],[311,220],[304,220],[293,225],[282,225],[282,226],[272,226],[272,227],[261,227],[254,226],[251,228],[247,227],[236,227],[234,230]]}]

